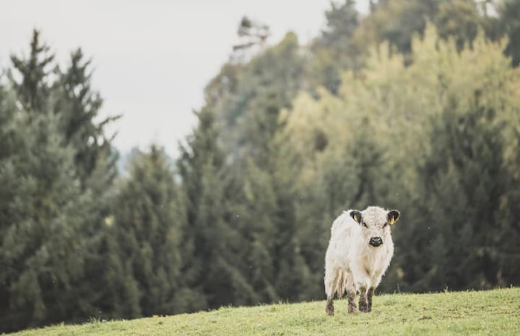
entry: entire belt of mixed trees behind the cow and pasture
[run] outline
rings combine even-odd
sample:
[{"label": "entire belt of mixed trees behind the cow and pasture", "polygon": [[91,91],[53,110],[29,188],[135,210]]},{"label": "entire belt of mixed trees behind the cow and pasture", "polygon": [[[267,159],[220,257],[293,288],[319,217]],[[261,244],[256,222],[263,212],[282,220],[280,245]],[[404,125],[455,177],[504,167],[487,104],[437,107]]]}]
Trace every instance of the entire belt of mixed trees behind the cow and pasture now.
[{"label": "entire belt of mixed trees behind the cow and pasture", "polygon": [[125,174],[91,60],[35,31],[0,80],[0,332],[320,300],[368,205],[403,214],[382,291],[519,285],[520,1],[371,3],[304,46],[242,19],[179,157]]}]

